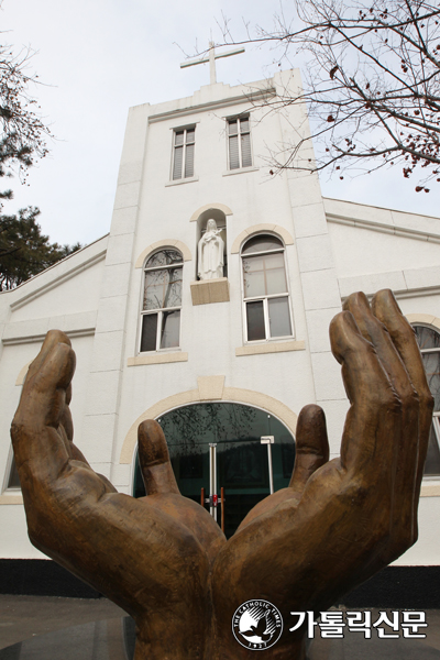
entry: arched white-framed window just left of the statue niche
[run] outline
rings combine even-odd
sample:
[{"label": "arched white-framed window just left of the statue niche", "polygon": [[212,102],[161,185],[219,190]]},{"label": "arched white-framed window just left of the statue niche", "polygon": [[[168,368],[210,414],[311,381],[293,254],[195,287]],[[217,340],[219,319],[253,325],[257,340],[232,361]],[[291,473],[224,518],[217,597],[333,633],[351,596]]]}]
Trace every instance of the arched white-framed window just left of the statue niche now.
[{"label": "arched white-framed window just left of the statue niche", "polygon": [[161,250],[145,264],[140,351],[179,345],[183,256]]}]

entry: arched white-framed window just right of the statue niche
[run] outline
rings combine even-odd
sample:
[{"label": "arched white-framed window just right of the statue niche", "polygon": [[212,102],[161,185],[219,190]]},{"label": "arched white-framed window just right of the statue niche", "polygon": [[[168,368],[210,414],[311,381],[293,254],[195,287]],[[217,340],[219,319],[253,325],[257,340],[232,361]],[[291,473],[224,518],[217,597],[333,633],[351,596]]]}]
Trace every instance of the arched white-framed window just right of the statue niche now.
[{"label": "arched white-framed window just right of the statue niche", "polygon": [[292,312],[284,244],[270,234],[250,239],[242,249],[246,341],[292,337]]}]

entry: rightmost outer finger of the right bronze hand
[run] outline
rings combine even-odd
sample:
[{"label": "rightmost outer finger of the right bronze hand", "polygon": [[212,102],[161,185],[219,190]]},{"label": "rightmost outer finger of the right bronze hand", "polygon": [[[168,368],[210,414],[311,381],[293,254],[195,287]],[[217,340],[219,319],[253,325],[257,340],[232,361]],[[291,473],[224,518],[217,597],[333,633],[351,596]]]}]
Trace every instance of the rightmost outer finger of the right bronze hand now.
[{"label": "rightmost outer finger of the right bronze hand", "polygon": [[417,345],[415,332],[403,316],[395,297],[391,290],[377,292],[372,301],[375,316],[388,330],[394,345],[396,346],[405,369],[409,375],[419,399],[419,432],[418,453],[414,459],[416,465],[416,501],[424,474],[424,465],[428,449],[429,432],[432,420],[433,399],[426,380],[424,362]]}]

